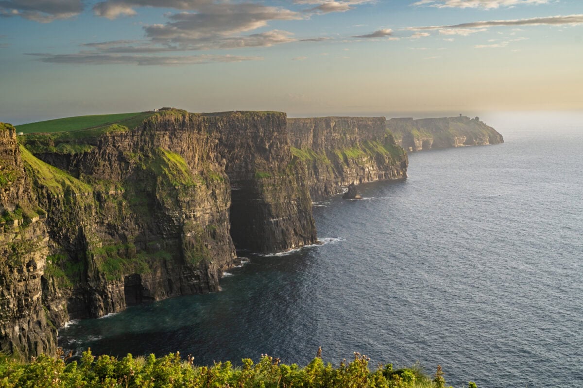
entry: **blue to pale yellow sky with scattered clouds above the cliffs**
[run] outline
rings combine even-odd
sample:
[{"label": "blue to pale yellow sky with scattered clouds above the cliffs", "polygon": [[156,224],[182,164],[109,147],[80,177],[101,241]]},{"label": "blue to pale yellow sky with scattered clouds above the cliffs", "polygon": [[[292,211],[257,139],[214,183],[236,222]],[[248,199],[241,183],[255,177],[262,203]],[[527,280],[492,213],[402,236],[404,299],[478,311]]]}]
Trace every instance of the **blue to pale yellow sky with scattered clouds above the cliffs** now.
[{"label": "blue to pale yellow sky with scattered clouds above the cliffs", "polygon": [[0,0],[0,122],[583,111],[582,0]]}]

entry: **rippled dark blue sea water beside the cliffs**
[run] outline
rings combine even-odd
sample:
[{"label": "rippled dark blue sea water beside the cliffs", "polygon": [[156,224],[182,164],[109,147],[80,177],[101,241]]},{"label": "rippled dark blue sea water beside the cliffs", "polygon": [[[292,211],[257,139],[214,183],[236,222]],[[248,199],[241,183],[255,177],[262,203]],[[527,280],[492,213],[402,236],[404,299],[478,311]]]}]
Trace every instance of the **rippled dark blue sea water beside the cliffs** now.
[{"label": "rippled dark blue sea water beside the cliffs", "polygon": [[199,364],[306,364],[321,346],[441,364],[455,387],[583,386],[582,124],[507,120],[505,144],[410,155],[408,180],[314,208],[326,244],[251,256],[220,293],[74,322],[59,344]]}]

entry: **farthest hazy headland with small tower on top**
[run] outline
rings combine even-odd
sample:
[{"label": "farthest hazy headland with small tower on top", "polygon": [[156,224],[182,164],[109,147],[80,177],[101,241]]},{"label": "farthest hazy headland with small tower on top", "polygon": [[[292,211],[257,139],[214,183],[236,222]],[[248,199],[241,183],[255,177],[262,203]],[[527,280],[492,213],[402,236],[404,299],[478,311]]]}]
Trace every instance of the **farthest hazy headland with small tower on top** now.
[{"label": "farthest hazy headland with small tower on top", "polygon": [[428,149],[504,143],[504,138],[479,118],[399,118],[387,120],[397,144],[410,152]]}]

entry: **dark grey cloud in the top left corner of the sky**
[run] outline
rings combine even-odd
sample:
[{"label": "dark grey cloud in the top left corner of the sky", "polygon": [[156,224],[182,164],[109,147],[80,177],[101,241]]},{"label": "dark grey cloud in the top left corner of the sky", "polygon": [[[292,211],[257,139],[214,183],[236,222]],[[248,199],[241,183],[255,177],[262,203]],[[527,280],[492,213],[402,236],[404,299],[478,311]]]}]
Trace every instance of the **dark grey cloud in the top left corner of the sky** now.
[{"label": "dark grey cloud in the top left corner of the sky", "polygon": [[20,16],[40,23],[68,19],[82,10],[82,0],[0,0],[0,16]]}]

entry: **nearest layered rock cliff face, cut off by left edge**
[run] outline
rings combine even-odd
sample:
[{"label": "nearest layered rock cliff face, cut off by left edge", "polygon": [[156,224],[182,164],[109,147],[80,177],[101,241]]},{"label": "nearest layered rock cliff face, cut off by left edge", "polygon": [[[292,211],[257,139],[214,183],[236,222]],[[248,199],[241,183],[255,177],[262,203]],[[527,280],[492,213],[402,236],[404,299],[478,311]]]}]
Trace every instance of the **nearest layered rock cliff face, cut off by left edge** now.
[{"label": "nearest layered rock cliff face, cut off by left edge", "polygon": [[42,301],[44,215],[24,171],[16,131],[0,123],[0,348],[22,358],[56,350],[57,330]]}]

